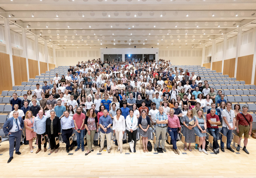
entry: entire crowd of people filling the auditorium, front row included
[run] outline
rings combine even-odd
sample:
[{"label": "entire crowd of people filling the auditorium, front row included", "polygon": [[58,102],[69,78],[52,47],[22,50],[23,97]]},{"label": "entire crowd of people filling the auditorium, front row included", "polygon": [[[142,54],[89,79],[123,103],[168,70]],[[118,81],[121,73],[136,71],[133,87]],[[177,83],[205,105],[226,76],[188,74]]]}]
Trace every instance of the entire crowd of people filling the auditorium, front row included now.
[{"label": "entire crowd of people filling the auditorium, front row included", "polygon": [[[118,144],[117,151],[123,151],[123,136],[128,135],[130,152],[136,152],[136,137],[142,137],[143,152],[148,152],[147,143],[149,128],[155,127],[156,142],[154,150],[160,147],[164,152],[166,132],[171,137],[175,154],[180,151],[176,140],[182,133],[185,136],[184,150],[191,149],[195,142],[195,134],[199,137],[198,150],[208,154],[205,149],[206,132],[214,137],[213,152],[224,150],[221,140],[219,147],[219,125],[222,134],[227,136],[227,149],[230,147],[232,130],[237,128],[239,138],[244,136],[243,151],[247,154],[247,138],[252,130],[252,116],[247,114],[247,106],[227,102],[222,90],[217,94],[209,88],[207,80],[201,81],[192,71],[182,68],[172,68],[171,62],[112,62],[92,60],[78,62],[70,66],[66,75],[55,74],[50,81],[44,81],[44,86],[36,85],[34,91],[28,90],[24,100],[13,93],[11,105],[13,111],[5,122],[3,129],[9,135],[10,159],[13,159],[14,141],[16,154],[19,152],[19,141],[25,129],[25,139],[29,141],[30,152],[33,153],[33,139],[37,139],[38,149],[44,142],[44,152],[49,141],[51,151],[58,152],[60,134],[66,143],[69,153],[75,146],[69,138],[76,134],[77,148],[85,151],[86,137],[88,155],[93,151],[93,138],[100,132],[100,150],[104,148],[106,138],[107,151],[111,151],[111,126]],[[204,113],[207,113],[206,117]],[[161,146],[158,144],[162,136]],[[48,137],[48,139],[47,139]],[[132,144],[133,143],[133,144]],[[240,144],[240,142],[239,142]],[[237,151],[239,151],[239,144]]]}]

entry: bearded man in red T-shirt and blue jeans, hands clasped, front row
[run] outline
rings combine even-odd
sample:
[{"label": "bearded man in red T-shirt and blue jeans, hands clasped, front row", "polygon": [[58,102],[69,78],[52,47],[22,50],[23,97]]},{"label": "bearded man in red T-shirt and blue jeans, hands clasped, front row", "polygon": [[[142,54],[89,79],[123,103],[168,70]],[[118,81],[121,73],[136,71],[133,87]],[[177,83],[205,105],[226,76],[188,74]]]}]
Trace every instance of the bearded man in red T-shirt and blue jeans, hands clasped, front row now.
[{"label": "bearded man in red T-shirt and blue jeans, hands clasped, front row", "polygon": [[[80,107],[77,107],[76,109],[77,113],[73,115],[74,125],[76,129],[76,142],[77,142],[77,148],[75,149],[75,152],[77,152],[80,147],[82,152],[85,151],[84,148],[84,136],[85,136],[85,114],[82,113],[82,109]],[[81,145],[80,145],[81,140]]]}]

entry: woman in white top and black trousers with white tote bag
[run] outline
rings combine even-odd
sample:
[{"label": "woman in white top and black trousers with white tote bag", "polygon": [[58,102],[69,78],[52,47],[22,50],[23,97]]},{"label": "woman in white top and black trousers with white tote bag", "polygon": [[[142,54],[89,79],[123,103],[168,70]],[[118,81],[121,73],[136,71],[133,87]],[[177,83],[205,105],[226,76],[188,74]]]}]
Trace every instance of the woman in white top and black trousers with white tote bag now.
[{"label": "woman in white top and black trousers with white tote bag", "polygon": [[126,133],[128,135],[128,142],[131,142],[131,140],[134,141],[133,151],[130,149],[131,152],[136,152],[136,136],[137,136],[137,124],[138,119],[136,116],[133,115],[133,110],[129,111],[129,115],[126,117]]}]

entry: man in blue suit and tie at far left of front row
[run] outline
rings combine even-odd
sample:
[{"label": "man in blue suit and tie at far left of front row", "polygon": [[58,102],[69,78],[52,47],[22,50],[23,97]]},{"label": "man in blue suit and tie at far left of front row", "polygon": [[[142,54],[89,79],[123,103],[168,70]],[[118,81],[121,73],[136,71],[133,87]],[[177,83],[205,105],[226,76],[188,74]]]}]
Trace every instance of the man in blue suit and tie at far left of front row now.
[{"label": "man in blue suit and tie at far left of front row", "polygon": [[9,135],[9,155],[10,158],[7,163],[10,163],[13,159],[13,151],[14,151],[14,142],[16,140],[16,146],[15,146],[15,154],[20,155],[19,152],[19,146],[20,146],[20,140],[21,140],[21,132],[24,128],[24,121],[21,117],[18,116],[18,111],[13,112],[13,117],[8,118],[3,126],[3,131],[5,135]]}]

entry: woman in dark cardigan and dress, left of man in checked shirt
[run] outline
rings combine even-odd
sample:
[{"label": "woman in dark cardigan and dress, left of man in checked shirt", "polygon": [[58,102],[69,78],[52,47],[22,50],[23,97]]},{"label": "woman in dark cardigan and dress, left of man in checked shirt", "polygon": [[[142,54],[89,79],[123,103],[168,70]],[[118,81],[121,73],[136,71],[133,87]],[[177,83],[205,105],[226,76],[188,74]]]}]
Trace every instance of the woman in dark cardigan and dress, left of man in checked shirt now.
[{"label": "woman in dark cardigan and dress, left of man in checked shirt", "polygon": [[143,145],[143,152],[148,152],[148,136],[149,136],[149,127],[150,127],[150,119],[149,116],[146,115],[146,111],[141,111],[141,116],[139,116],[138,124],[139,124],[139,134],[142,137],[142,145]]}]

